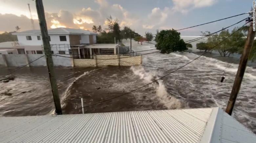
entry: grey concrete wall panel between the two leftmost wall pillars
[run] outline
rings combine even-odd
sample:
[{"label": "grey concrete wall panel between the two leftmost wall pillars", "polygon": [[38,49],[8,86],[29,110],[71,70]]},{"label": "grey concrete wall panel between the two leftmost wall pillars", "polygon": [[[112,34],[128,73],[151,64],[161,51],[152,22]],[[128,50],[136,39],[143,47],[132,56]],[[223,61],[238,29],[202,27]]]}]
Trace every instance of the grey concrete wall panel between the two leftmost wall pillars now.
[{"label": "grey concrete wall panel between the two leftmost wall pillars", "polygon": [[[28,64],[28,58],[25,54],[8,54],[4,55],[8,67],[21,67]],[[29,65],[27,65],[29,67]]]}]

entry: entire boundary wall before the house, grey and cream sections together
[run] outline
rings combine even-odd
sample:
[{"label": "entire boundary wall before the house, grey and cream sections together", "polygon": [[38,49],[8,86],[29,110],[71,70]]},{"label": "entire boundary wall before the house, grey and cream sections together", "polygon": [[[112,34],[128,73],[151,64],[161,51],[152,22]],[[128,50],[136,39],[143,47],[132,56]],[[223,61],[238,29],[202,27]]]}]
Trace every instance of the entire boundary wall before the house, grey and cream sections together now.
[{"label": "entire boundary wall before the house, grey and cream sections together", "polygon": [[[43,54],[9,54],[9,55],[0,55],[0,66],[2,67],[21,67],[24,66],[35,59],[43,56]],[[67,55],[65,55],[67,56]],[[109,58],[118,58],[118,57],[127,57],[121,59],[109,59]],[[107,60],[109,59],[109,60]],[[119,55],[97,55],[94,56],[94,59],[73,59],[67,57],[53,56],[54,66],[63,66],[63,67],[103,67],[103,66],[134,66],[141,65],[142,58],[141,56],[119,56]],[[40,59],[30,63],[27,67],[40,67],[46,66],[46,58],[41,57]]]}]

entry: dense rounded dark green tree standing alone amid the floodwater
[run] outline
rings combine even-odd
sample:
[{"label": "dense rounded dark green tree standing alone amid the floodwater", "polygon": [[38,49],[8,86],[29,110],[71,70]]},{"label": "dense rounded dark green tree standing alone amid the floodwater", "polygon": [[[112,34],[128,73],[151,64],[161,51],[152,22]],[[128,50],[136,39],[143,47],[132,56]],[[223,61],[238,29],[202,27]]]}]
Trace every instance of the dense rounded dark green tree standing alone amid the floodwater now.
[{"label": "dense rounded dark green tree standing alone amid the floodwater", "polygon": [[186,43],[180,37],[181,33],[176,30],[161,30],[157,36],[155,45],[161,53],[183,52],[188,50]]}]

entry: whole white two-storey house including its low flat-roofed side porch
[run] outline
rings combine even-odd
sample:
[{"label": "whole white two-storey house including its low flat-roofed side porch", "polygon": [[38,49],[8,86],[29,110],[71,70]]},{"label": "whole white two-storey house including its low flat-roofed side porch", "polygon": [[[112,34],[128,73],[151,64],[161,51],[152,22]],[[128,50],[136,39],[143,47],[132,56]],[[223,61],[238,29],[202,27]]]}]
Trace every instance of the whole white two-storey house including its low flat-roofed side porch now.
[{"label": "whole white two-storey house including its low flat-roofed side porch", "polygon": [[[13,33],[17,35],[18,54],[43,54],[43,41],[40,30],[28,30]],[[96,44],[97,33],[83,29],[49,29],[53,54],[72,54],[79,58],[92,58],[96,54],[116,54],[117,44]],[[114,39],[113,39],[114,41]]]}]

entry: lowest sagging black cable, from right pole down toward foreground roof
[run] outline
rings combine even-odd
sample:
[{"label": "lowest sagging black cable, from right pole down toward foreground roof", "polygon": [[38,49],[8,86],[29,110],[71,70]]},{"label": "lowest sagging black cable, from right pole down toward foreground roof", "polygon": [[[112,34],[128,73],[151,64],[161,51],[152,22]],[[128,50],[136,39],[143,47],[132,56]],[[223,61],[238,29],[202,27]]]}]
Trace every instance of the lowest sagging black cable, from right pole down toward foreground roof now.
[{"label": "lowest sagging black cable, from right pole down toward foreground roof", "polygon": [[[244,26],[245,26],[245,24],[244,24],[242,27],[244,27]],[[190,61],[190,62],[184,64],[183,66],[179,67],[178,69],[176,69],[176,70],[174,70],[174,71],[172,71],[172,72],[170,72],[170,73],[168,73],[168,74],[166,74],[166,75],[164,75],[164,76],[162,76],[162,77],[160,77],[160,78],[154,80],[153,82],[150,82],[150,83],[148,83],[148,84],[146,84],[146,85],[144,85],[144,86],[141,86],[141,87],[139,87],[139,88],[136,88],[136,89],[134,89],[134,90],[131,90],[131,91],[127,92],[127,93],[118,95],[118,96],[116,96],[116,97],[113,97],[113,98],[110,98],[110,99],[107,99],[107,100],[103,100],[103,101],[100,101],[100,102],[97,102],[97,103],[93,103],[93,104],[84,106],[83,108],[85,108],[85,107],[90,107],[90,106],[93,106],[93,105],[96,105],[96,104],[99,104],[99,103],[107,102],[107,101],[116,99],[116,98],[118,98],[118,97],[127,95],[127,94],[129,94],[129,93],[131,93],[131,92],[133,92],[133,91],[136,91],[136,90],[140,89],[140,88],[146,87],[146,86],[148,86],[148,85],[150,85],[150,84],[152,84],[152,83],[154,83],[154,82],[156,82],[156,81],[158,81],[158,80],[160,80],[160,79],[162,79],[162,78],[164,78],[164,77],[170,75],[171,73],[173,73],[173,72],[175,72],[175,71],[180,70],[181,68],[183,68],[183,67],[185,67],[186,65],[192,63],[193,61],[197,60],[198,58],[200,58],[200,57],[203,56],[204,54],[208,53],[210,50],[212,50],[212,49],[214,49],[215,47],[217,47],[218,45],[220,45],[222,42],[224,42],[225,40],[227,40],[228,38],[230,38],[232,35],[234,35],[237,31],[239,31],[242,27],[240,27],[239,29],[237,29],[235,32],[233,32],[232,34],[230,34],[227,38],[225,38],[224,40],[222,40],[221,42],[219,42],[217,45],[213,46],[211,49],[209,49],[208,51],[206,51],[206,52],[203,53],[202,55],[200,55],[200,56],[196,57],[195,59],[193,59],[192,61]],[[74,110],[71,110],[71,111],[75,111],[75,110],[79,110],[79,109],[80,109],[80,108],[74,109]],[[65,112],[65,113],[66,113],[66,112]]]}]

